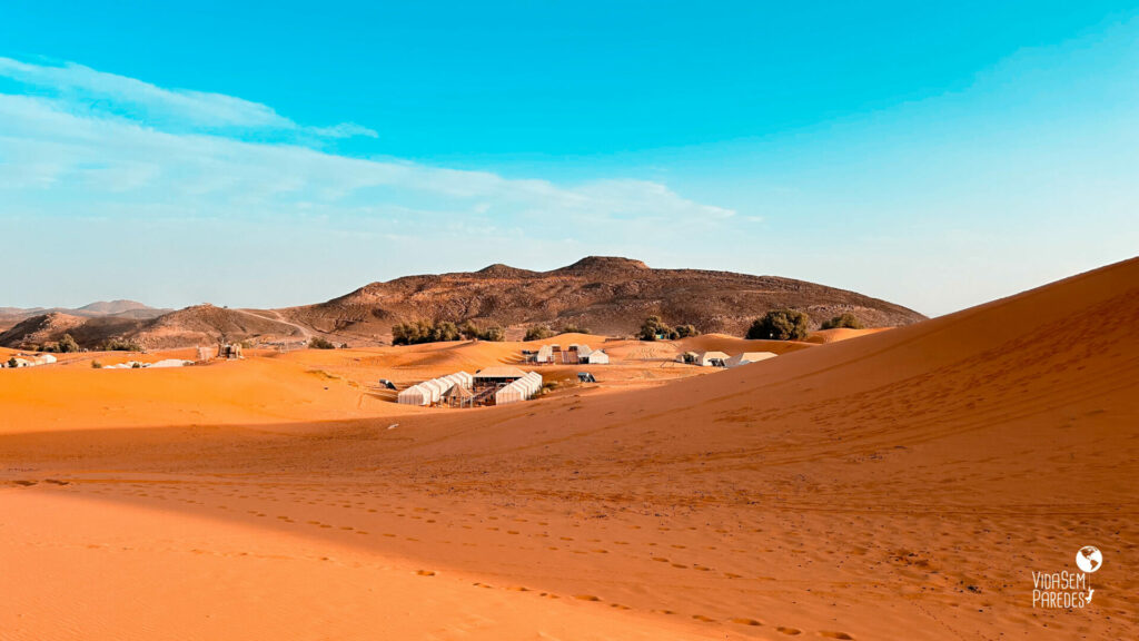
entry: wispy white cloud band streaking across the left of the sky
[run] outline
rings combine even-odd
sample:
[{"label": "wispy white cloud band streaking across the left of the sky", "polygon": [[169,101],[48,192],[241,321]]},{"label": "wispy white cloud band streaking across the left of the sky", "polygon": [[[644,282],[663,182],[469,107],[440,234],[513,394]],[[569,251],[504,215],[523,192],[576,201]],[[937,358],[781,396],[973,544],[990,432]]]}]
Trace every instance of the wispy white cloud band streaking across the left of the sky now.
[{"label": "wispy white cloud band streaking across the left of the sky", "polygon": [[[300,125],[240,98],[167,90],[80,65],[47,67],[0,58],[0,74],[58,89],[36,96],[0,94],[0,188],[28,203],[42,203],[33,192],[50,187],[55,206],[73,200],[83,203],[83,211],[122,206],[126,200],[132,206],[174,200],[188,211],[235,216],[281,216],[302,211],[301,203],[352,211],[386,204],[441,217],[477,211],[499,227],[528,235],[550,233],[549,226],[536,224],[542,220],[649,226],[642,233],[652,235],[656,226],[680,233],[734,214],[653,181],[559,186],[399,159],[349,157],[301,144],[246,141],[220,129]],[[105,97],[110,108],[84,108],[92,95]],[[157,113],[162,117],[151,117]],[[305,129],[328,137],[376,136],[355,124]]]}]

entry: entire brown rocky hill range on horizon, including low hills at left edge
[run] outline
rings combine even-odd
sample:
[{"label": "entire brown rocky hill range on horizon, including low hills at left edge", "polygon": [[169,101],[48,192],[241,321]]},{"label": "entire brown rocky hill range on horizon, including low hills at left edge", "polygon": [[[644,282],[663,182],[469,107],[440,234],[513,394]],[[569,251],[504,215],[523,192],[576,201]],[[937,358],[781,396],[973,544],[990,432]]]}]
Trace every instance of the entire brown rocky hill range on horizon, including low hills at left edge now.
[{"label": "entire brown rocky hill range on horizon, including low hills at left edge", "polygon": [[639,260],[589,257],[550,271],[491,265],[473,273],[407,276],[371,283],[327,302],[277,310],[203,305],[169,311],[134,301],[41,309],[23,317],[10,315],[0,346],[31,348],[57,341],[64,333],[85,348],[108,338],[157,349],[220,340],[306,340],[310,334],[369,344],[390,340],[392,325],[412,320],[501,325],[511,338],[521,338],[535,324],[630,335],[649,315],[672,325],[693,324],[704,333],[741,336],[755,318],[781,307],[806,313],[814,327],[843,313],[868,327],[925,318],[899,305],[805,281],[653,269]]}]

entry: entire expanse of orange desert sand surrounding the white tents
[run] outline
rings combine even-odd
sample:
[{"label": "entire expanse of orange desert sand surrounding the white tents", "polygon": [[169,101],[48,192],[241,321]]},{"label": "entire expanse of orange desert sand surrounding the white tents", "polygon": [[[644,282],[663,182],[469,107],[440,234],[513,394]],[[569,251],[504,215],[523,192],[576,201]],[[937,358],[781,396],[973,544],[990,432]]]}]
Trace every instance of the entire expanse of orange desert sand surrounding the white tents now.
[{"label": "entire expanse of orange desert sand surrounding the white tents", "polygon": [[601,383],[503,407],[372,383],[519,343],[0,372],[0,636],[1133,639],[1137,327],[1131,260],[730,371],[559,338]]}]

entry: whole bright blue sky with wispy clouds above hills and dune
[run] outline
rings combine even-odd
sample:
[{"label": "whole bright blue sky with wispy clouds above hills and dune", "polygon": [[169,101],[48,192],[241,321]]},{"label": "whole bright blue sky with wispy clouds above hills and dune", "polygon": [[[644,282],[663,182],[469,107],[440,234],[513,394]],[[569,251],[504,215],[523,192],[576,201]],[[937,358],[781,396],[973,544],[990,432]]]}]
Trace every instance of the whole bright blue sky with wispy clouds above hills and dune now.
[{"label": "whole bright blue sky with wispy clouds above hills and dune", "polygon": [[15,2],[0,306],[585,254],[936,315],[1134,255],[1122,2]]}]

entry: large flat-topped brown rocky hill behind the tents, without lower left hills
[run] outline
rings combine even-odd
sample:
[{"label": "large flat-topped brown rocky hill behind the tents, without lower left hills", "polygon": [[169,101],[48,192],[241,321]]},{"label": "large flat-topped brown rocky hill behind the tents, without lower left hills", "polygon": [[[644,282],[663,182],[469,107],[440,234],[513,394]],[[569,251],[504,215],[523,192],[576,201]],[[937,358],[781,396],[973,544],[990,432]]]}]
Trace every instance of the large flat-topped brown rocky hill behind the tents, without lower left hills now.
[{"label": "large flat-topped brown rocky hill behind the tents, without lower left hills", "polygon": [[502,326],[576,325],[624,335],[646,316],[741,335],[770,309],[793,307],[817,326],[852,313],[867,326],[925,318],[904,307],[816,283],[698,269],[652,269],[639,260],[589,257],[551,271],[491,265],[474,273],[407,276],[371,283],[328,302],[281,310],[345,339],[386,334],[395,323],[474,320]]}]

